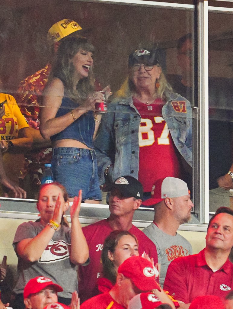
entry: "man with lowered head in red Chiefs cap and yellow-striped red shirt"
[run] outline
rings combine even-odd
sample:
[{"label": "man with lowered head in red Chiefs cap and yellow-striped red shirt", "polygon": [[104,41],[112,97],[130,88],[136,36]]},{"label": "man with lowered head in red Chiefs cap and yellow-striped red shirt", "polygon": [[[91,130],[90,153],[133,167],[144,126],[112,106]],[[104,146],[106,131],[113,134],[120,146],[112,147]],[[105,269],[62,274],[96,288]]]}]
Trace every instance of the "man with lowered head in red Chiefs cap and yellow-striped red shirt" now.
[{"label": "man with lowered head in red Chiefs cap and yellow-striped red shirt", "polygon": [[113,288],[88,299],[80,309],[124,309],[135,295],[154,289],[161,290],[151,262],[141,256],[131,256],[119,266]]}]

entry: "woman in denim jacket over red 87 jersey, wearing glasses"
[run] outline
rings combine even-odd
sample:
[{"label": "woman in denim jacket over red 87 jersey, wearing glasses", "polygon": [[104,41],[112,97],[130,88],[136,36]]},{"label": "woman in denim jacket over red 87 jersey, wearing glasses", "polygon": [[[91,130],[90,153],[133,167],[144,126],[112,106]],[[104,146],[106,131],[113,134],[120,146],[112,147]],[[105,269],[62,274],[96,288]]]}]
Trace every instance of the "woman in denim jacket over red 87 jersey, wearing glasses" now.
[{"label": "woman in denim jacket over red 87 jersey, wearing glasses", "polygon": [[147,198],[157,179],[184,178],[184,165],[191,172],[192,109],[167,83],[155,49],[132,52],[128,68],[94,142],[98,174],[102,185],[131,175]]}]

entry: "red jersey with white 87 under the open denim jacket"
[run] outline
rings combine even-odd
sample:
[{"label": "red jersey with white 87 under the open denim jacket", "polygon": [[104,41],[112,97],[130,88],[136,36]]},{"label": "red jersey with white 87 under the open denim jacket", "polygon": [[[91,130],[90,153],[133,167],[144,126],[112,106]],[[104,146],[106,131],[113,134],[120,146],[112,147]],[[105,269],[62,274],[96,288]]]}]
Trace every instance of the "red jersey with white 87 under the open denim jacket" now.
[{"label": "red jersey with white 87 under the open denim jacket", "polygon": [[151,192],[157,179],[168,176],[181,178],[176,147],[162,116],[164,101],[156,99],[147,105],[133,98],[141,123],[139,127],[138,180],[144,192]]}]

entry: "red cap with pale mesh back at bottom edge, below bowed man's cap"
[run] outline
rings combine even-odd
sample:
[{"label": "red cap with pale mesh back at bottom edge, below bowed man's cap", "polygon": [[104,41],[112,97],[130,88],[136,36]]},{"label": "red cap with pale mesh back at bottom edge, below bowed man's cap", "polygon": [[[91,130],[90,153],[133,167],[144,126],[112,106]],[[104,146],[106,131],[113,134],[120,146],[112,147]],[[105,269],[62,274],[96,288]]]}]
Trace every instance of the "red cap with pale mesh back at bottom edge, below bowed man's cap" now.
[{"label": "red cap with pale mesh back at bottom edge, below bowed man's cap", "polygon": [[163,309],[172,308],[169,304],[162,303],[155,294],[140,293],[129,301],[128,309],[154,309],[159,306]]}]

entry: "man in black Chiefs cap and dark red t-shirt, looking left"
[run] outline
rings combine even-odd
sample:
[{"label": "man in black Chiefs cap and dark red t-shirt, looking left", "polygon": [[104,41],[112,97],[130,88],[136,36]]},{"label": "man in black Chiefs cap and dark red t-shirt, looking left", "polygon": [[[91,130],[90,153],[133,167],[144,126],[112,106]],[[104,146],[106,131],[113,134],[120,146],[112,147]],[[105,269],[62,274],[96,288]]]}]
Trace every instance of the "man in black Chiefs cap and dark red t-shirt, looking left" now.
[{"label": "man in black Chiefs cap and dark red t-shirt, looking left", "polygon": [[82,282],[79,287],[81,303],[95,295],[97,278],[102,271],[101,251],[104,240],[110,232],[114,230],[129,231],[138,239],[139,255],[145,251],[151,258],[154,258],[155,265],[158,260],[155,244],[132,224],[135,210],[142,203],[142,184],[132,176],[121,176],[112,184],[107,185],[104,191],[110,193],[109,218],[82,228],[89,247],[90,264],[79,266],[80,281]]}]

